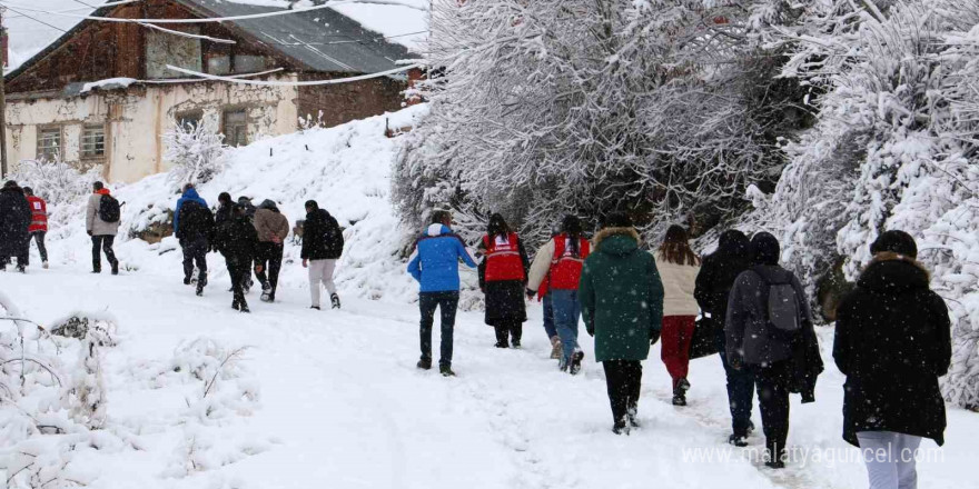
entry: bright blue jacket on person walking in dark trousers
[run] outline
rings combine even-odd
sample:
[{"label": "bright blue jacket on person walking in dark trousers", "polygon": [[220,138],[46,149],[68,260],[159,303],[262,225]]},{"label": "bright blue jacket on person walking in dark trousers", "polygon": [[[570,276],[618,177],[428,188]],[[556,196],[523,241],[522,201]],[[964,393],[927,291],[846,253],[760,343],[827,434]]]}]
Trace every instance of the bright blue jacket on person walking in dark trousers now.
[{"label": "bright blue jacket on person walking in dark trousers", "polygon": [[432,224],[415,244],[408,273],[422,283],[422,292],[458,292],[459,258],[467,267],[476,268],[463,240],[452,229]]}]

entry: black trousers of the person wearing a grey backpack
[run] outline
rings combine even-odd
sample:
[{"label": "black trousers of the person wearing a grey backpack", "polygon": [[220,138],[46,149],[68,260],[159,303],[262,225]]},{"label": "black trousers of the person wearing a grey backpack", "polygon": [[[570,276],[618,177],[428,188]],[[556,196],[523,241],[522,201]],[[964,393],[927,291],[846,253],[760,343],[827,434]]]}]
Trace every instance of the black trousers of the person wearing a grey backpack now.
[{"label": "black trousers of the person wearing a grey backpack", "polygon": [[765,367],[751,366],[754,381],[758,385],[758,403],[761,408],[761,422],[765,433],[765,449],[770,457],[779,459],[785,452],[785,439],[789,438],[791,363],[791,360],[784,360]]}]

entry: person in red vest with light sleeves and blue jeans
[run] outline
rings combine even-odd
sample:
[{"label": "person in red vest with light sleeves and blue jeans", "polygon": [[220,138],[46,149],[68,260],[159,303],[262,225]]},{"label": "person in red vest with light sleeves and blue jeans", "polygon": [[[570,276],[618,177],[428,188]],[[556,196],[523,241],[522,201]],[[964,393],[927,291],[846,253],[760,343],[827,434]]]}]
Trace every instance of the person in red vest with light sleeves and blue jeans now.
[{"label": "person in red vest with light sleeves and blue jeans", "polygon": [[561,371],[576,375],[585,353],[577,345],[577,325],[581,319],[581,302],[577,300],[577,285],[581,280],[582,265],[592,251],[589,240],[582,237],[581,220],[567,216],[561,224],[562,232],[547,241],[534,257],[527,281],[527,297],[533,297],[547,279],[551,302],[554,308],[554,326],[561,337]]}]

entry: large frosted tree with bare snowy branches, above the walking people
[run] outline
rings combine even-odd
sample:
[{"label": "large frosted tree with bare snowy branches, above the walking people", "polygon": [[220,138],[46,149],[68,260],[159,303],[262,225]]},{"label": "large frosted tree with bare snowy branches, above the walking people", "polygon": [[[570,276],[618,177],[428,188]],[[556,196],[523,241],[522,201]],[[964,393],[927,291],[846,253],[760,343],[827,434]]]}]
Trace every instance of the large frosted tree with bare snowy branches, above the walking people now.
[{"label": "large frosted tree with bare snowy branches, above the walking people", "polygon": [[725,1],[436,1],[432,114],[395,169],[402,216],[498,211],[543,237],[567,212],[627,210],[655,231],[740,209],[778,174],[797,96],[753,32],[763,17]]}]

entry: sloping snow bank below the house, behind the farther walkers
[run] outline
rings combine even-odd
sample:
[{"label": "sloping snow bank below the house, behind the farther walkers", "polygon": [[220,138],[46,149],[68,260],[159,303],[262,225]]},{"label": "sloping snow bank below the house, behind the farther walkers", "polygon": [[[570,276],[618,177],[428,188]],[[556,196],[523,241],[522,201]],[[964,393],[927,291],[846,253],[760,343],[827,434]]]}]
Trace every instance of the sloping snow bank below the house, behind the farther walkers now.
[{"label": "sloping snow bank below the house, behind the farther walkers", "polygon": [[[329,129],[309,129],[231,149],[225,170],[199,184],[198,191],[212,207],[217,206],[222,191],[235,199],[249,197],[256,206],[271,199],[294,226],[305,219],[305,202],[316,200],[345,228],[346,248],[336,275],[342,295],[411,300],[417,286],[405,273],[400,257],[404,231],[398,229],[388,200],[390,168],[399,140],[385,137],[385,129],[414,126],[427,110],[425,106],[415,106],[396,113]],[[41,184],[34,183],[34,187]],[[109,187],[123,203],[122,227],[116,246],[123,273],[156,272],[180,280],[181,253],[176,238],[167,237],[152,244],[137,238],[141,231],[169,222],[180,197],[176,183],[160,173],[128,186]],[[75,209],[75,214],[67,226],[52,223],[48,248],[55,265],[90,267],[91,244],[83,224],[85,199],[87,197],[69,206],[68,210]],[[57,211],[66,212],[65,209]],[[31,251],[32,261],[39,262],[37,250]],[[298,239],[290,236],[286,242],[280,289],[308,288],[299,251]],[[212,289],[226,287],[221,281],[227,276],[221,257],[209,255],[208,266]]]}]

